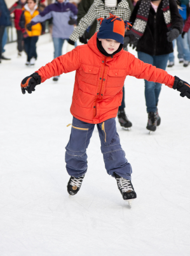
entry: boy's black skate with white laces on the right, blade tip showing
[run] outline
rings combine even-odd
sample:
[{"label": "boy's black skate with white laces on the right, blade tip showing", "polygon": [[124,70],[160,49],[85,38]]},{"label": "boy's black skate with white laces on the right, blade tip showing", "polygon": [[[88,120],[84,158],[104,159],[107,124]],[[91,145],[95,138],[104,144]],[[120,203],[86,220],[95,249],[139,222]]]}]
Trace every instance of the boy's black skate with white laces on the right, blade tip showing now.
[{"label": "boy's black skate with white laces on the right, blade tip showing", "polygon": [[124,200],[128,201],[130,208],[132,207],[133,199],[137,198],[137,194],[134,191],[132,181],[120,177],[118,174],[114,174],[116,181],[118,183],[118,189],[121,192],[121,195]]}]

